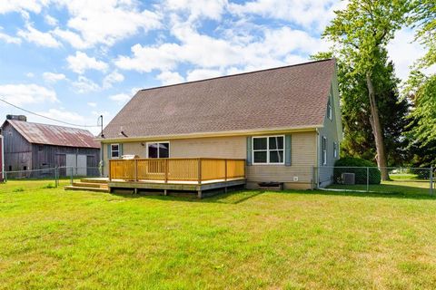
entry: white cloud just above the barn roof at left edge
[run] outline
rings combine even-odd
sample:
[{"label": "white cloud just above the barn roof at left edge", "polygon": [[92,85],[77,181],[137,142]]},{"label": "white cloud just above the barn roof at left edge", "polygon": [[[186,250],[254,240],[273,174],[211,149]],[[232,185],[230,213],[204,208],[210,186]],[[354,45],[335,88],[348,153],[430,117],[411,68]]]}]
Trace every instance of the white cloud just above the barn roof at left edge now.
[{"label": "white cloud just above the barn roof at left edge", "polygon": [[30,103],[58,102],[56,92],[37,84],[0,85],[2,99],[17,106]]}]

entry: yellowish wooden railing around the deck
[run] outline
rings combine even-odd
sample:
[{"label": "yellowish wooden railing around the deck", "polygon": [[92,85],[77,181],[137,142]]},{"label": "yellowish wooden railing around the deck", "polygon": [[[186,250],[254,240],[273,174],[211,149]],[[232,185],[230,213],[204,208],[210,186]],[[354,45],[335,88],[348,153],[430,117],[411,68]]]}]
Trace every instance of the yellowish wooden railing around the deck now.
[{"label": "yellowish wooden railing around the deck", "polygon": [[213,158],[109,160],[109,180],[202,181],[245,177],[245,160]]}]

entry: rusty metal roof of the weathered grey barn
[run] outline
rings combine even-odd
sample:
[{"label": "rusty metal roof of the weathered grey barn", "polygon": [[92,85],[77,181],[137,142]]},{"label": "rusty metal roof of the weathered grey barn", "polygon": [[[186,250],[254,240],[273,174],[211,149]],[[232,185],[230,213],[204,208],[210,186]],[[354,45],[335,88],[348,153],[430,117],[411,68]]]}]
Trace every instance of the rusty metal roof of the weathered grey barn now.
[{"label": "rusty metal roof of the weathered grey barn", "polygon": [[30,143],[78,148],[100,148],[100,145],[94,141],[94,135],[87,130],[28,121],[6,120],[5,123],[11,124]]}]

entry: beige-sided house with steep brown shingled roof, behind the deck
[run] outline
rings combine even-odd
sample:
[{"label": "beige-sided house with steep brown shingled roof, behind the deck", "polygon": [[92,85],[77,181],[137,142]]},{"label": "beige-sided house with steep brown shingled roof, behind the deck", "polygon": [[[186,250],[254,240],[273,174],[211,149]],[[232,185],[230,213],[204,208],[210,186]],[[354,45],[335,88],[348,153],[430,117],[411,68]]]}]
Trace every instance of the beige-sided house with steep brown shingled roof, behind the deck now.
[{"label": "beige-sided house with steep brown shingled roof, behind the deck", "polygon": [[[153,171],[138,165],[121,169],[119,159],[132,155],[245,160],[249,189],[264,182],[281,183],[284,189],[325,186],[332,182],[342,140],[336,64],[328,59],[144,89],[103,133],[98,140],[109,178],[125,179],[130,170],[137,181],[138,172]],[[213,166],[208,170],[218,170],[218,163]]]}]

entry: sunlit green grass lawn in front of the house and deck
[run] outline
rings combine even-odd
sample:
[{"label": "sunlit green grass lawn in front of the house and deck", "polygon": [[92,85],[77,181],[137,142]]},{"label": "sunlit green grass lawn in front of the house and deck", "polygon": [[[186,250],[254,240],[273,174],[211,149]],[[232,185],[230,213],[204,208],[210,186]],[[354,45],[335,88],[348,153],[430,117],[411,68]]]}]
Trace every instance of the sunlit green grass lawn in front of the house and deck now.
[{"label": "sunlit green grass lawn in front of the house and deck", "polygon": [[436,288],[436,199],[426,195],[196,200],[47,183],[0,185],[0,288]]}]

